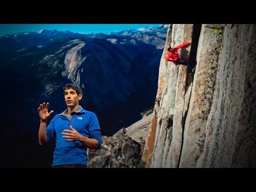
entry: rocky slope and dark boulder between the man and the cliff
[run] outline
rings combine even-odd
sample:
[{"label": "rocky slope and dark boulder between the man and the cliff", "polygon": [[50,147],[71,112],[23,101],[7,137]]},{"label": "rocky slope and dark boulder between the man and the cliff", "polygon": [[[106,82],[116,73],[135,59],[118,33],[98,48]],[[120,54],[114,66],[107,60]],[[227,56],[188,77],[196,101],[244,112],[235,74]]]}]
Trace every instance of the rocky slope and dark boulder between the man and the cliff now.
[{"label": "rocky slope and dark boulder between the man and the cliff", "polygon": [[143,168],[142,151],[152,114],[129,127],[123,127],[113,137],[102,137],[99,150],[89,149],[89,168]]}]

